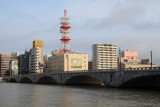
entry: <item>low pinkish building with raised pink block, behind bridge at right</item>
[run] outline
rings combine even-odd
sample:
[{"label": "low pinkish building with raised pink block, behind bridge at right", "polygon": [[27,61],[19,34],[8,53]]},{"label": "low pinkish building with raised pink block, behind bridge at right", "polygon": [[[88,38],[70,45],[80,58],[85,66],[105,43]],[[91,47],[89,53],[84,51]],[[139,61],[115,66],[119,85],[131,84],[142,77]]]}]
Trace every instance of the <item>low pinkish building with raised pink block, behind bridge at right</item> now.
[{"label": "low pinkish building with raised pink block, behind bridge at right", "polygon": [[[137,51],[122,51],[121,58],[118,59],[118,67],[119,68],[143,68],[143,67],[151,67],[150,59],[138,59]],[[120,65],[121,63],[121,65]],[[157,65],[153,64],[152,67],[157,67]]]}]

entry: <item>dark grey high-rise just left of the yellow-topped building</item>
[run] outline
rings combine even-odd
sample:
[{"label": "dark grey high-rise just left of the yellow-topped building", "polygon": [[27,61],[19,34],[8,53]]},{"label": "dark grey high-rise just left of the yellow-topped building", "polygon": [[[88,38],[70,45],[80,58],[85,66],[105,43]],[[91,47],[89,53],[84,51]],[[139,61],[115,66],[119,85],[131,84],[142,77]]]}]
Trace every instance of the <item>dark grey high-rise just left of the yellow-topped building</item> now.
[{"label": "dark grey high-rise just left of the yellow-topped building", "polygon": [[25,51],[24,54],[18,57],[18,72],[19,74],[29,74],[29,52]]}]

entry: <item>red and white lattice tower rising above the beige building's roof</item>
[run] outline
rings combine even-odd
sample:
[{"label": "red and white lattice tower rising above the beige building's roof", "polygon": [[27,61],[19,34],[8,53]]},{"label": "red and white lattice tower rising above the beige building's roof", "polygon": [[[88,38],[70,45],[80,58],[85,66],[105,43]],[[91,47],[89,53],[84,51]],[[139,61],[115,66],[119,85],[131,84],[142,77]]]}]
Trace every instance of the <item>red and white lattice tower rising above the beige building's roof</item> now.
[{"label": "red and white lattice tower rising above the beige building's roof", "polygon": [[60,32],[62,33],[62,38],[61,40],[61,49],[59,51],[59,54],[63,54],[63,53],[71,53],[71,48],[70,48],[70,38],[69,38],[69,29],[71,28],[69,26],[69,20],[70,18],[67,17],[67,10],[64,10],[64,17],[61,18],[61,24],[62,26],[60,27]]}]

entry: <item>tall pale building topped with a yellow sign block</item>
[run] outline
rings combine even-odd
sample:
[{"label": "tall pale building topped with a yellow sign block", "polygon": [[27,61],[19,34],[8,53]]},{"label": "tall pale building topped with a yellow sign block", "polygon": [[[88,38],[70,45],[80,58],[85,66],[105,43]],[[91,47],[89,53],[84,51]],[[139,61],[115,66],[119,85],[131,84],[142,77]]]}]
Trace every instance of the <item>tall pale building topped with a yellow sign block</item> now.
[{"label": "tall pale building topped with a yellow sign block", "polygon": [[30,73],[43,73],[43,41],[33,41],[33,48],[30,49],[29,55]]}]

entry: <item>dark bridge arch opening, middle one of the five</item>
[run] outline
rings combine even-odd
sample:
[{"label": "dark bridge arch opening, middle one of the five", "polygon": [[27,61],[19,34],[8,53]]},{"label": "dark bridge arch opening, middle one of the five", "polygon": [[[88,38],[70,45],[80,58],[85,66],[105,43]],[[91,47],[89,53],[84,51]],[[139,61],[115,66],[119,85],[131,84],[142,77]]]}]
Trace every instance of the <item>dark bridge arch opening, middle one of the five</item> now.
[{"label": "dark bridge arch opening, middle one of the five", "polygon": [[57,81],[50,76],[44,76],[44,77],[40,77],[37,83],[39,84],[57,84]]}]

